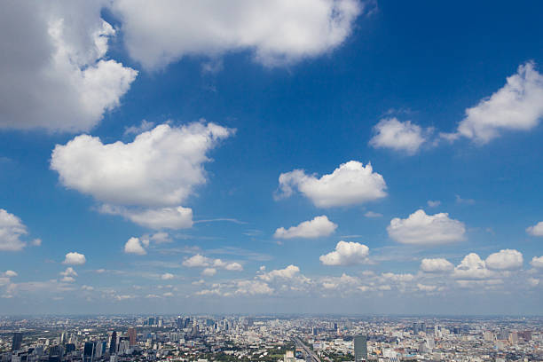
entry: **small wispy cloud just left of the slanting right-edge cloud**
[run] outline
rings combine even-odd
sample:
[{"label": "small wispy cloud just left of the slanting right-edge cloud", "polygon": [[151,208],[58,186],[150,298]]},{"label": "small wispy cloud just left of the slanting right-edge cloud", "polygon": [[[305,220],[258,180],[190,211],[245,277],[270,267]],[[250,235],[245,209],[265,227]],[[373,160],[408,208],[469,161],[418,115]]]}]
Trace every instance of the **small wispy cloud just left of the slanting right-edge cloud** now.
[{"label": "small wispy cloud just left of the slanting right-edge cloud", "polygon": [[374,137],[369,144],[375,148],[391,148],[394,151],[414,154],[423,143],[428,142],[432,129],[422,129],[410,121],[386,118],[374,126]]}]

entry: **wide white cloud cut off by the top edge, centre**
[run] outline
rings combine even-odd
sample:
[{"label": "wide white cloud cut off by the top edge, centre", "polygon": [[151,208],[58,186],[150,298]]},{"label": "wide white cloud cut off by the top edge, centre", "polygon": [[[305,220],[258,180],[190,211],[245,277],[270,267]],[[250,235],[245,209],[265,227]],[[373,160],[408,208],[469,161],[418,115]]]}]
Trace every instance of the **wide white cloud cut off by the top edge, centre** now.
[{"label": "wide white cloud cut off by the top edge, centre", "polygon": [[216,58],[252,51],[276,66],[333,50],[350,34],[363,11],[358,0],[116,0],[124,43],[146,68],[163,67],[186,55]]}]

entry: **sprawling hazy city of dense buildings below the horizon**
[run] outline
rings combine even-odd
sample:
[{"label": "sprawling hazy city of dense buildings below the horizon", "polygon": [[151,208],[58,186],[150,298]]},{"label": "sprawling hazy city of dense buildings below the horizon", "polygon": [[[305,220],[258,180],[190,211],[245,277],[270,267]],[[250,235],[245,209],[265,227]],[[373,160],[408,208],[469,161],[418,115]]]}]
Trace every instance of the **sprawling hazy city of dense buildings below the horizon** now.
[{"label": "sprawling hazy city of dense buildings below the horizon", "polygon": [[0,361],[543,361],[543,319],[0,319]]}]

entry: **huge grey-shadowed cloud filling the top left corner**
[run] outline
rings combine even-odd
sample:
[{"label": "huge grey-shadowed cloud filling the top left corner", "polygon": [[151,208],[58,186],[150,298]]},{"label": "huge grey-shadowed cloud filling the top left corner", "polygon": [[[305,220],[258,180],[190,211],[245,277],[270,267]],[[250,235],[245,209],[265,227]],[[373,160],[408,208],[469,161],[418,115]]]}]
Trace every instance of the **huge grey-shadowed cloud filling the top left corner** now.
[{"label": "huge grey-shadowed cloud filling the top left corner", "polygon": [[[8,2],[0,13],[0,128],[90,130],[138,72],[106,59],[105,2]],[[17,41],[13,41],[17,34]]]}]

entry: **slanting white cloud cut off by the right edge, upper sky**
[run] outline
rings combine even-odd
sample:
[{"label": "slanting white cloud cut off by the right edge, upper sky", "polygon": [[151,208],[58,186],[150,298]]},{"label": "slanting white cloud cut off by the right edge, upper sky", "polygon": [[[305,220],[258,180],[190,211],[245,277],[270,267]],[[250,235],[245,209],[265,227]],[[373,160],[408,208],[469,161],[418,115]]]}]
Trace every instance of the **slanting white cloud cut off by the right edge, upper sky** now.
[{"label": "slanting white cloud cut off by the right edge, upper sky", "polygon": [[500,136],[503,130],[531,130],[543,117],[543,75],[528,62],[490,98],[466,109],[458,132],[448,138],[463,136],[484,144]]}]

